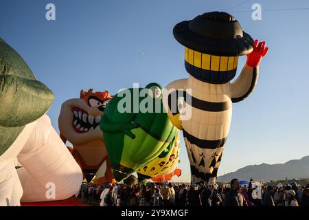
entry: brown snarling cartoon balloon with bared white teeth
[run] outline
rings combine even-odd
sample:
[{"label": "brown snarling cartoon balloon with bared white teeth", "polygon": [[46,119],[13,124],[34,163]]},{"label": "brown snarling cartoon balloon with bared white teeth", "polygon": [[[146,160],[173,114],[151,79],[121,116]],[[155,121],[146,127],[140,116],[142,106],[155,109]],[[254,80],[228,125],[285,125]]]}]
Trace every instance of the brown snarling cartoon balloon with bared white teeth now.
[{"label": "brown snarling cartoon balloon with bared white teeth", "polygon": [[73,144],[69,150],[80,164],[87,181],[90,182],[95,176],[95,184],[115,181],[99,126],[111,98],[108,91],[82,90],[80,98],[72,98],[62,104],[58,118],[61,139]]}]

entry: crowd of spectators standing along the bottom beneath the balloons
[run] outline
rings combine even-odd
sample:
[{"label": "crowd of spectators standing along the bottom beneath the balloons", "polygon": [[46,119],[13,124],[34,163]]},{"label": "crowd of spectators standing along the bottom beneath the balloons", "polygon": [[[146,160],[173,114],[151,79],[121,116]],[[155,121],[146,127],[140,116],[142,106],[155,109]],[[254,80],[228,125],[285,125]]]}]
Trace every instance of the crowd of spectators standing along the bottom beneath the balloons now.
[{"label": "crowd of spectators standing along the bottom beneath the balloons", "polygon": [[296,183],[282,187],[196,184],[110,184],[84,183],[80,194],[84,203],[100,206],[309,206],[309,186]]}]

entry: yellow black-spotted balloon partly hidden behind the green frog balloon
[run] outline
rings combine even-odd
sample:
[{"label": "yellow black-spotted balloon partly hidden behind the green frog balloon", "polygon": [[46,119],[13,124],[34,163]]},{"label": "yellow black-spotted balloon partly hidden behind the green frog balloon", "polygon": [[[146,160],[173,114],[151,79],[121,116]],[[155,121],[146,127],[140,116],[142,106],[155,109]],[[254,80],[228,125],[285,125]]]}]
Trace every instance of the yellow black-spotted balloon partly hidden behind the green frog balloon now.
[{"label": "yellow black-spotted balloon partly hidden behind the green frog balloon", "polygon": [[168,147],[157,158],[137,170],[139,181],[151,179],[157,175],[172,173],[180,162],[179,151],[179,131],[177,131],[172,142],[170,142]]}]

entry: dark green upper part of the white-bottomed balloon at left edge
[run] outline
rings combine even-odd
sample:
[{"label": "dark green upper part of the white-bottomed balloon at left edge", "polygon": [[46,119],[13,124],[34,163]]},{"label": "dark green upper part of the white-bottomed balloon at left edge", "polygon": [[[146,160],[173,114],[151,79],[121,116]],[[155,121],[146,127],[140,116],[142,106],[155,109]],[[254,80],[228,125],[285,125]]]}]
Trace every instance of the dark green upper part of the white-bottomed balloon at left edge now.
[{"label": "dark green upper part of the white-bottomed balloon at left edge", "polygon": [[0,38],[0,155],[25,124],[49,109],[54,94],[36,80],[23,58]]}]

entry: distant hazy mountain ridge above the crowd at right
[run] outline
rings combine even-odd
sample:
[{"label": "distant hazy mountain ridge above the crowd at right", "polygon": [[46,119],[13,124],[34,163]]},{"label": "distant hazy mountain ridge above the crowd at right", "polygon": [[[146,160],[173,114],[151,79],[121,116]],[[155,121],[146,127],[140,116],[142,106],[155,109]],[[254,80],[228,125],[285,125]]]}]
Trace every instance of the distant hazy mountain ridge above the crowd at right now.
[{"label": "distant hazy mountain ridge above the crowd at right", "polygon": [[236,170],[236,172],[227,173],[218,177],[217,181],[231,181],[233,178],[239,180],[249,180],[253,178],[254,181],[275,181],[277,179],[301,179],[309,178],[309,156],[301,159],[293,159],[285,164],[260,164],[245,166]]}]

